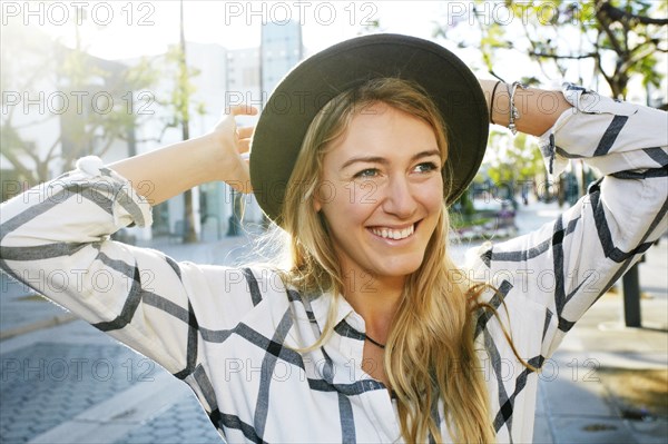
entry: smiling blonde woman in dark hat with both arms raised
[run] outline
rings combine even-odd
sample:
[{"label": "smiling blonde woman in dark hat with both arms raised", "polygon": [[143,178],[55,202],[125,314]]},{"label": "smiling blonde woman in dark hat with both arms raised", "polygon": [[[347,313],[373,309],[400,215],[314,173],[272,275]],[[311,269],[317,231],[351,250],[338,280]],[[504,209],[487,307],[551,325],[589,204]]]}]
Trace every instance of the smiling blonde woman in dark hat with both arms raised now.
[{"label": "smiling blonde woman in dark hat with both arms raised", "polygon": [[[542,363],[665,230],[666,115],[573,86],[479,83],[443,48],[391,34],[295,68],[250,144],[234,117],[254,112],[109,167],[82,159],[7,203],[3,269],[71,274],[48,296],[184,379],[229,442],[531,441]],[[550,172],[588,158],[606,176],[462,273],[445,205],[475,175],[488,120],[541,136]],[[177,264],[108,239],[150,224],[148,200],[209,180],[253,189],[289,236],[287,267]]]}]

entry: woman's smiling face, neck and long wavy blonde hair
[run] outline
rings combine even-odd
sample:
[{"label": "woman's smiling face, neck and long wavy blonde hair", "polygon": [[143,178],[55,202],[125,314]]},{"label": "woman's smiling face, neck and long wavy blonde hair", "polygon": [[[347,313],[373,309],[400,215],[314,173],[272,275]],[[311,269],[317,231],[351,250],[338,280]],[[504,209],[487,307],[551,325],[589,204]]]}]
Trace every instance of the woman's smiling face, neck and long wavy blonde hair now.
[{"label": "woman's smiling face, neck and long wavy blonde hair", "polygon": [[[335,97],[314,118],[291,176],[331,193],[288,189],[283,227],[294,267],[285,280],[304,294],[344,295],[362,316],[362,369],[392,389],[407,442],[440,435],[430,414],[439,392],[446,406],[458,405],[459,440],[487,442],[491,427],[465,420],[487,416],[487,403],[473,335],[461,335],[472,328],[471,307],[445,251],[446,158],[445,126],[418,85],[374,79]],[[335,307],[314,346],[333,333]],[[448,383],[466,402],[452,398]]]}]

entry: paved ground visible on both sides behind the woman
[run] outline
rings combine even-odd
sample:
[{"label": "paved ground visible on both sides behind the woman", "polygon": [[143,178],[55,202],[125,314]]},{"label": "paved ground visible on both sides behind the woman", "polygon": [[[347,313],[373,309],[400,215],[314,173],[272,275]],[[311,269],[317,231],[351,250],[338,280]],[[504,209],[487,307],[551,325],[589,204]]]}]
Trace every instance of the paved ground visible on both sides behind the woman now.
[{"label": "paved ground visible on both sides behind the woman", "polygon": [[[553,204],[521,207],[518,228],[525,233],[558,214]],[[248,241],[165,240],[153,247],[178,260],[233,264]],[[464,247],[455,248],[454,256]],[[641,379],[668,368],[667,270],[668,238],[662,238],[639,267],[644,328],[625,328],[622,297],[609,294],[567,336],[541,375],[534,442],[666,441],[668,418],[621,398],[609,371],[632,369]],[[11,335],[0,341],[0,442],[219,442],[184,384],[84,322],[56,325],[65,310],[6,279],[0,282],[0,334]],[[668,399],[668,387],[662,391]]]}]

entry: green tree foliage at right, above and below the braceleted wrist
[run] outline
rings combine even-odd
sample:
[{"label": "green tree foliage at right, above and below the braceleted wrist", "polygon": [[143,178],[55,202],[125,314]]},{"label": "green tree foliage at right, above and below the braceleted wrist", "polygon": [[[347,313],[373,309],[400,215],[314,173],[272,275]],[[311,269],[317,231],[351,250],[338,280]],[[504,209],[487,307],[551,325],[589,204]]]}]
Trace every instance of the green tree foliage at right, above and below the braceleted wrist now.
[{"label": "green tree foliage at right, above and below the braceleted wrist", "polygon": [[[475,0],[465,4],[468,16],[453,8],[458,12],[442,18],[434,37],[478,50],[482,67],[507,81],[540,86],[569,80],[598,90],[605,82],[613,97],[625,98],[632,79],[644,87],[659,87],[665,77],[658,67],[668,51],[667,1]],[[479,176],[497,184],[542,176],[544,166],[536,148],[522,135],[513,139],[492,130]]]}]

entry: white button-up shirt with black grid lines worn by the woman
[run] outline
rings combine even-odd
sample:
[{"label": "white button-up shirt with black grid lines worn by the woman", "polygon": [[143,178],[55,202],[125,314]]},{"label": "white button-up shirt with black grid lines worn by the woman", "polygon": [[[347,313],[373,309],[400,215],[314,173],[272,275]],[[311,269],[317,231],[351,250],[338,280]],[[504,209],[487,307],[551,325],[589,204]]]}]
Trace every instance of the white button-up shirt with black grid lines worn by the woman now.
[{"label": "white button-up shirt with black grid lines worn by the woman", "polygon": [[[532,440],[539,378],[500,323],[540,368],[667,226],[667,115],[573,85],[563,92],[574,108],[540,138],[548,168],[587,159],[605,177],[554,223],[487,244],[464,267],[498,288],[485,298],[501,320],[480,316],[475,335],[499,442]],[[326,345],[295,352],[320,336],[332,295],[286,289],[268,269],[176,263],[111,241],[151,214],[99,159],[3,204],[0,217],[4,272],[184,379],[228,442],[401,441],[395,403],[361,368],[364,320],[345,299]],[[104,292],[99,274],[112,277]],[[442,406],[433,414],[448,438]]]}]

